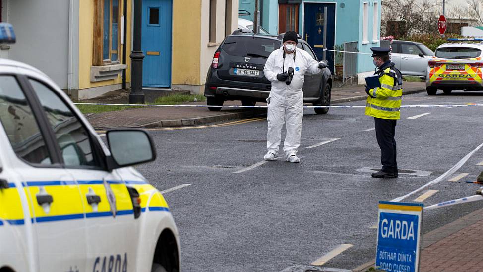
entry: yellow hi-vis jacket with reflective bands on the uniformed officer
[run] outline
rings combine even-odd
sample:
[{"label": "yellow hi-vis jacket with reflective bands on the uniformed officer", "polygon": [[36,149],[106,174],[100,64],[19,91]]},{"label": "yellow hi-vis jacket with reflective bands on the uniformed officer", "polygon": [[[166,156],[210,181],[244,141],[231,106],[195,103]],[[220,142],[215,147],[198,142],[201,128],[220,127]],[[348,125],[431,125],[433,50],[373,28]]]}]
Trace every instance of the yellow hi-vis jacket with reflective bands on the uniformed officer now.
[{"label": "yellow hi-vis jacket with reflective bands on the uniformed officer", "polygon": [[365,115],[382,119],[399,119],[401,97],[403,95],[403,79],[401,72],[393,66],[379,73],[381,87],[370,89]]}]

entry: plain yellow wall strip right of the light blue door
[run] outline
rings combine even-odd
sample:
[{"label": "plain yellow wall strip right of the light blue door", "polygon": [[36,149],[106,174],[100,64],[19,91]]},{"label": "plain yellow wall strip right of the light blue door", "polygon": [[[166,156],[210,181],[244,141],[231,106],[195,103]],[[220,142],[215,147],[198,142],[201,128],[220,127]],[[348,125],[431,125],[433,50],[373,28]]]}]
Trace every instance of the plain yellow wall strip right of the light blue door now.
[{"label": "plain yellow wall strip right of the light blue door", "polygon": [[201,1],[173,1],[172,84],[200,85]]}]

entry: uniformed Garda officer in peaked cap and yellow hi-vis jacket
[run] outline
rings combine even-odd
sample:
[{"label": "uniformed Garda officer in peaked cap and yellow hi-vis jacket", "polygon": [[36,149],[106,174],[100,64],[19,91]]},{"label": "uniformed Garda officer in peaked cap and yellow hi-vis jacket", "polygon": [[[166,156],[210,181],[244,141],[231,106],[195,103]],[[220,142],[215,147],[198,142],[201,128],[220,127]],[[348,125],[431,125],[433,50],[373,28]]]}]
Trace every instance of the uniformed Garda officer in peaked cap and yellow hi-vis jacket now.
[{"label": "uniformed Garda officer in peaked cap and yellow hi-vis jacket", "polygon": [[376,138],[382,153],[382,168],[372,173],[374,178],[396,178],[396,120],[400,118],[401,97],[403,94],[403,78],[401,72],[389,59],[389,48],[372,47],[373,63],[378,68],[381,87],[365,88],[367,104],[365,114],[374,117]]}]

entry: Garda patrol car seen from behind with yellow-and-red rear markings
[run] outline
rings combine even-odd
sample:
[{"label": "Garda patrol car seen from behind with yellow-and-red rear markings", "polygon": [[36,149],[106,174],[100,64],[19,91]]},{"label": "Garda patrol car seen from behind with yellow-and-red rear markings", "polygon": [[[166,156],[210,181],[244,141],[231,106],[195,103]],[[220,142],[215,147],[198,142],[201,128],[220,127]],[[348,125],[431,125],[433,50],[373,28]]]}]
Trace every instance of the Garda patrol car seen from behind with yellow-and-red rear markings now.
[{"label": "Garda patrol car seen from behind with yellow-and-red rear markings", "polygon": [[445,94],[452,90],[483,90],[483,39],[448,39],[428,61],[426,91],[435,95],[438,89]]}]

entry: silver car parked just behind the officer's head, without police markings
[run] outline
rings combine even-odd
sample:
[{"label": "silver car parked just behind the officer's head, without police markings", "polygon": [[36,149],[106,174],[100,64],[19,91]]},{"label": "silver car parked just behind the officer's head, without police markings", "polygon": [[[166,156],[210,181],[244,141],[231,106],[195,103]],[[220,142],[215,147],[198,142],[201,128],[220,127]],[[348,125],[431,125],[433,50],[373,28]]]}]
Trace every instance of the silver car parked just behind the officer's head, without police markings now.
[{"label": "silver car parked just behind the officer's head, without police markings", "polygon": [[422,43],[392,41],[391,60],[405,76],[426,77],[427,62],[434,52]]}]

